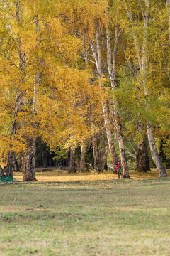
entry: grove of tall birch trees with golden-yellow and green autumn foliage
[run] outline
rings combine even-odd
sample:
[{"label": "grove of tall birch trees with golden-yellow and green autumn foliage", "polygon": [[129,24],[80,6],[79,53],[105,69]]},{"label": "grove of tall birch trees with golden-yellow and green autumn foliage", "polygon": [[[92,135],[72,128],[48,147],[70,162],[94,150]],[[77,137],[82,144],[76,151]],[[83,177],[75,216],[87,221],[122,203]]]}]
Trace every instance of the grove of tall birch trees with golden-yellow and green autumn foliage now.
[{"label": "grove of tall birch trees with golden-yellow and green autumn foliage", "polygon": [[[0,164],[36,181],[36,142],[69,171],[128,157],[166,177],[170,0],[0,0]],[[128,145],[132,145],[134,152]],[[164,162],[163,162],[164,161]],[[1,174],[4,174],[0,168]]]}]

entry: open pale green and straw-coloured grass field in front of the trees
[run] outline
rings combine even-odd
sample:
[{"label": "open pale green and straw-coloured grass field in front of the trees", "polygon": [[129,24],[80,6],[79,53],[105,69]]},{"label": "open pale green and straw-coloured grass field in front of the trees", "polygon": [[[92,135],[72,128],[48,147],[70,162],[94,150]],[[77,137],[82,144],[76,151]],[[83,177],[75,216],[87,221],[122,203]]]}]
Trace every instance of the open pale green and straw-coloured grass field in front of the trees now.
[{"label": "open pale green and straw-coloured grass field in front of the trees", "polygon": [[170,178],[0,184],[0,255],[169,255]]}]

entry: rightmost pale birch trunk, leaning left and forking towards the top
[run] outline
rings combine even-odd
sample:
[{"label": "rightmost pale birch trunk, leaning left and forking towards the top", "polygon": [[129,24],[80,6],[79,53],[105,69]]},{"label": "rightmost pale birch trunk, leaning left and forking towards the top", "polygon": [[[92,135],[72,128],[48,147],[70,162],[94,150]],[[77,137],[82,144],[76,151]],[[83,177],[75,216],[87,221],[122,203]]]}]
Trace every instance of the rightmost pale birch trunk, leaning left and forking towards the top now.
[{"label": "rightmost pale birch trunk, leaning left and forking towards the top", "polygon": [[[134,42],[135,52],[137,56],[138,66],[140,70],[140,78],[143,90],[145,92],[145,97],[149,97],[149,87],[148,87],[148,67],[149,67],[149,19],[150,19],[150,1],[138,1],[138,5],[134,9],[134,4],[132,1],[124,0],[125,9],[128,14],[129,24],[131,28],[131,35]],[[142,17],[140,26],[142,26],[142,38],[139,36],[139,31],[136,30],[136,21],[134,20],[134,11],[140,9],[140,16]],[[138,9],[138,10],[139,10]],[[149,110],[149,105],[147,105]],[[152,124],[147,120],[147,137],[149,141],[149,147],[152,154],[152,159],[154,164],[157,166],[159,171],[159,177],[167,176],[166,170],[162,165],[159,154],[157,152],[157,147],[154,142],[154,136],[152,132]]]}]

